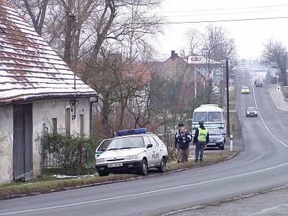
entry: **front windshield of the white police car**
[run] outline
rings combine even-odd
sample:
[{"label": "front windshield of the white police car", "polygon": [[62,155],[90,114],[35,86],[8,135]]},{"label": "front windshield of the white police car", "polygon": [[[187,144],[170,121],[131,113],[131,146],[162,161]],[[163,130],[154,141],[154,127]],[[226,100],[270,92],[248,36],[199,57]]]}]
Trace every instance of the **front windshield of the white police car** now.
[{"label": "front windshield of the white police car", "polygon": [[145,147],[142,136],[123,136],[113,139],[106,151],[134,147]]}]

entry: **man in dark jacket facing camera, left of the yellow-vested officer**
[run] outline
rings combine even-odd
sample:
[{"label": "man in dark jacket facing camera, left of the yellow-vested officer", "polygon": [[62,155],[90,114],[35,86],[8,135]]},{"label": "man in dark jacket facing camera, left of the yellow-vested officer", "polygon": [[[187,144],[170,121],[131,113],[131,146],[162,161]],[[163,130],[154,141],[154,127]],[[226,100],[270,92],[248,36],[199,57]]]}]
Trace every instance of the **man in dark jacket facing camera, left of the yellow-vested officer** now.
[{"label": "man in dark jacket facing camera, left of the yellow-vested officer", "polygon": [[188,161],[189,143],[191,142],[191,135],[184,126],[180,128],[180,133],[176,134],[180,154],[178,156],[178,163]]}]

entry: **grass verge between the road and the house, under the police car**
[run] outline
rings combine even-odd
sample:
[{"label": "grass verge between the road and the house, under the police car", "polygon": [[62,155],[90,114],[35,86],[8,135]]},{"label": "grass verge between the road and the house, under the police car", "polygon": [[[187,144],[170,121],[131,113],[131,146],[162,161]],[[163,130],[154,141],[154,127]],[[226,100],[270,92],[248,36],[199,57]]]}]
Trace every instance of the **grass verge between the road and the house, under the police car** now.
[{"label": "grass verge between the road and the house, under the police car", "polygon": [[[210,153],[204,152],[204,162],[194,163],[193,158],[189,158],[187,163],[177,163],[176,160],[171,160],[167,163],[166,173],[171,171],[180,171],[183,169],[192,169],[195,167],[203,167],[215,163],[220,163],[235,156],[237,152],[219,152]],[[149,171],[149,176],[158,174],[155,170]],[[147,176],[147,177],[149,177]],[[77,189],[81,187],[92,187],[99,184],[110,184],[123,180],[134,180],[137,178],[147,178],[136,174],[117,174],[112,176],[99,177],[95,173],[93,176],[84,178],[69,178],[57,179],[53,175],[45,175],[35,178],[29,182],[4,184],[0,187],[0,200],[21,197],[27,195],[37,195],[39,193],[51,193],[54,191],[64,191],[69,189]]]}]

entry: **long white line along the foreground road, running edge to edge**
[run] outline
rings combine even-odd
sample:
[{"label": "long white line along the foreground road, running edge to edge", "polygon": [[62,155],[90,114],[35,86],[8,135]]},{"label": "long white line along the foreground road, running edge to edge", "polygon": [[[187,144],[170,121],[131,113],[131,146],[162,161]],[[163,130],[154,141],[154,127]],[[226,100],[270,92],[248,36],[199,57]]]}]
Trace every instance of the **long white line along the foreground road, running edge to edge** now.
[{"label": "long white line along the foreground road, running edge to edge", "polygon": [[161,192],[161,191],[171,191],[171,190],[174,190],[174,189],[180,189],[180,188],[184,188],[184,187],[193,187],[195,185],[207,184],[207,183],[211,183],[211,182],[217,182],[217,181],[226,180],[226,179],[230,179],[230,178],[236,178],[236,177],[239,177],[239,176],[248,176],[248,175],[251,175],[251,174],[254,174],[254,173],[260,173],[260,172],[267,171],[267,170],[270,170],[270,169],[276,169],[278,167],[283,167],[285,165],[288,165],[288,162],[287,163],[283,163],[281,165],[274,166],[274,167],[269,167],[269,168],[265,168],[265,169],[259,169],[259,170],[256,170],[256,171],[251,171],[251,172],[248,172],[248,173],[242,173],[242,174],[238,174],[238,175],[235,175],[235,176],[217,178],[217,179],[208,180],[208,181],[205,181],[205,182],[181,185],[181,186],[178,186],[178,187],[170,187],[170,188],[167,188],[167,189],[159,189],[159,190],[147,191],[147,192],[143,192],[143,193],[134,193],[134,194],[130,194],[130,195],[121,195],[121,196],[118,196],[118,197],[110,197],[110,198],[100,199],[100,200],[91,200],[91,201],[86,201],[86,202],[75,202],[75,203],[72,203],[72,204],[64,204],[64,205],[60,205],[60,206],[51,206],[51,207],[46,207],[46,208],[34,208],[34,209],[28,209],[28,210],[23,210],[23,211],[13,211],[13,212],[9,212],[9,213],[0,213],[0,215],[12,215],[12,214],[18,214],[18,213],[28,213],[28,212],[34,212],[34,211],[43,211],[43,210],[49,210],[49,209],[53,209],[53,208],[62,208],[62,207],[68,207],[68,206],[78,206],[78,205],[95,203],[95,202],[101,202],[101,201],[106,201],[106,200],[117,200],[117,199],[121,199],[123,197],[135,197],[135,196],[139,196],[139,195],[158,193],[158,192]]}]

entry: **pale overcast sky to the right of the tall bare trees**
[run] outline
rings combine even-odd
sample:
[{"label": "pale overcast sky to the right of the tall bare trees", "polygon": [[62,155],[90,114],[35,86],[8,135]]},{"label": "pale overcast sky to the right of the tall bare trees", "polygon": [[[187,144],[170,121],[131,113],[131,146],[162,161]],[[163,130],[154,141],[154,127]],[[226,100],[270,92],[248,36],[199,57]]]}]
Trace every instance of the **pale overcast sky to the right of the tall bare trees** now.
[{"label": "pale overcast sky to the right of the tall bare trees", "polygon": [[[241,58],[256,59],[261,55],[263,43],[269,38],[280,41],[288,49],[288,1],[287,0],[165,0],[160,13],[168,22],[199,22],[169,24],[165,36],[158,43],[158,51],[169,57],[187,47],[185,32],[209,25],[206,21],[221,25],[235,39]],[[287,17],[278,19],[267,19]],[[250,21],[232,21],[252,19]],[[203,21],[203,22],[202,22]]]}]

